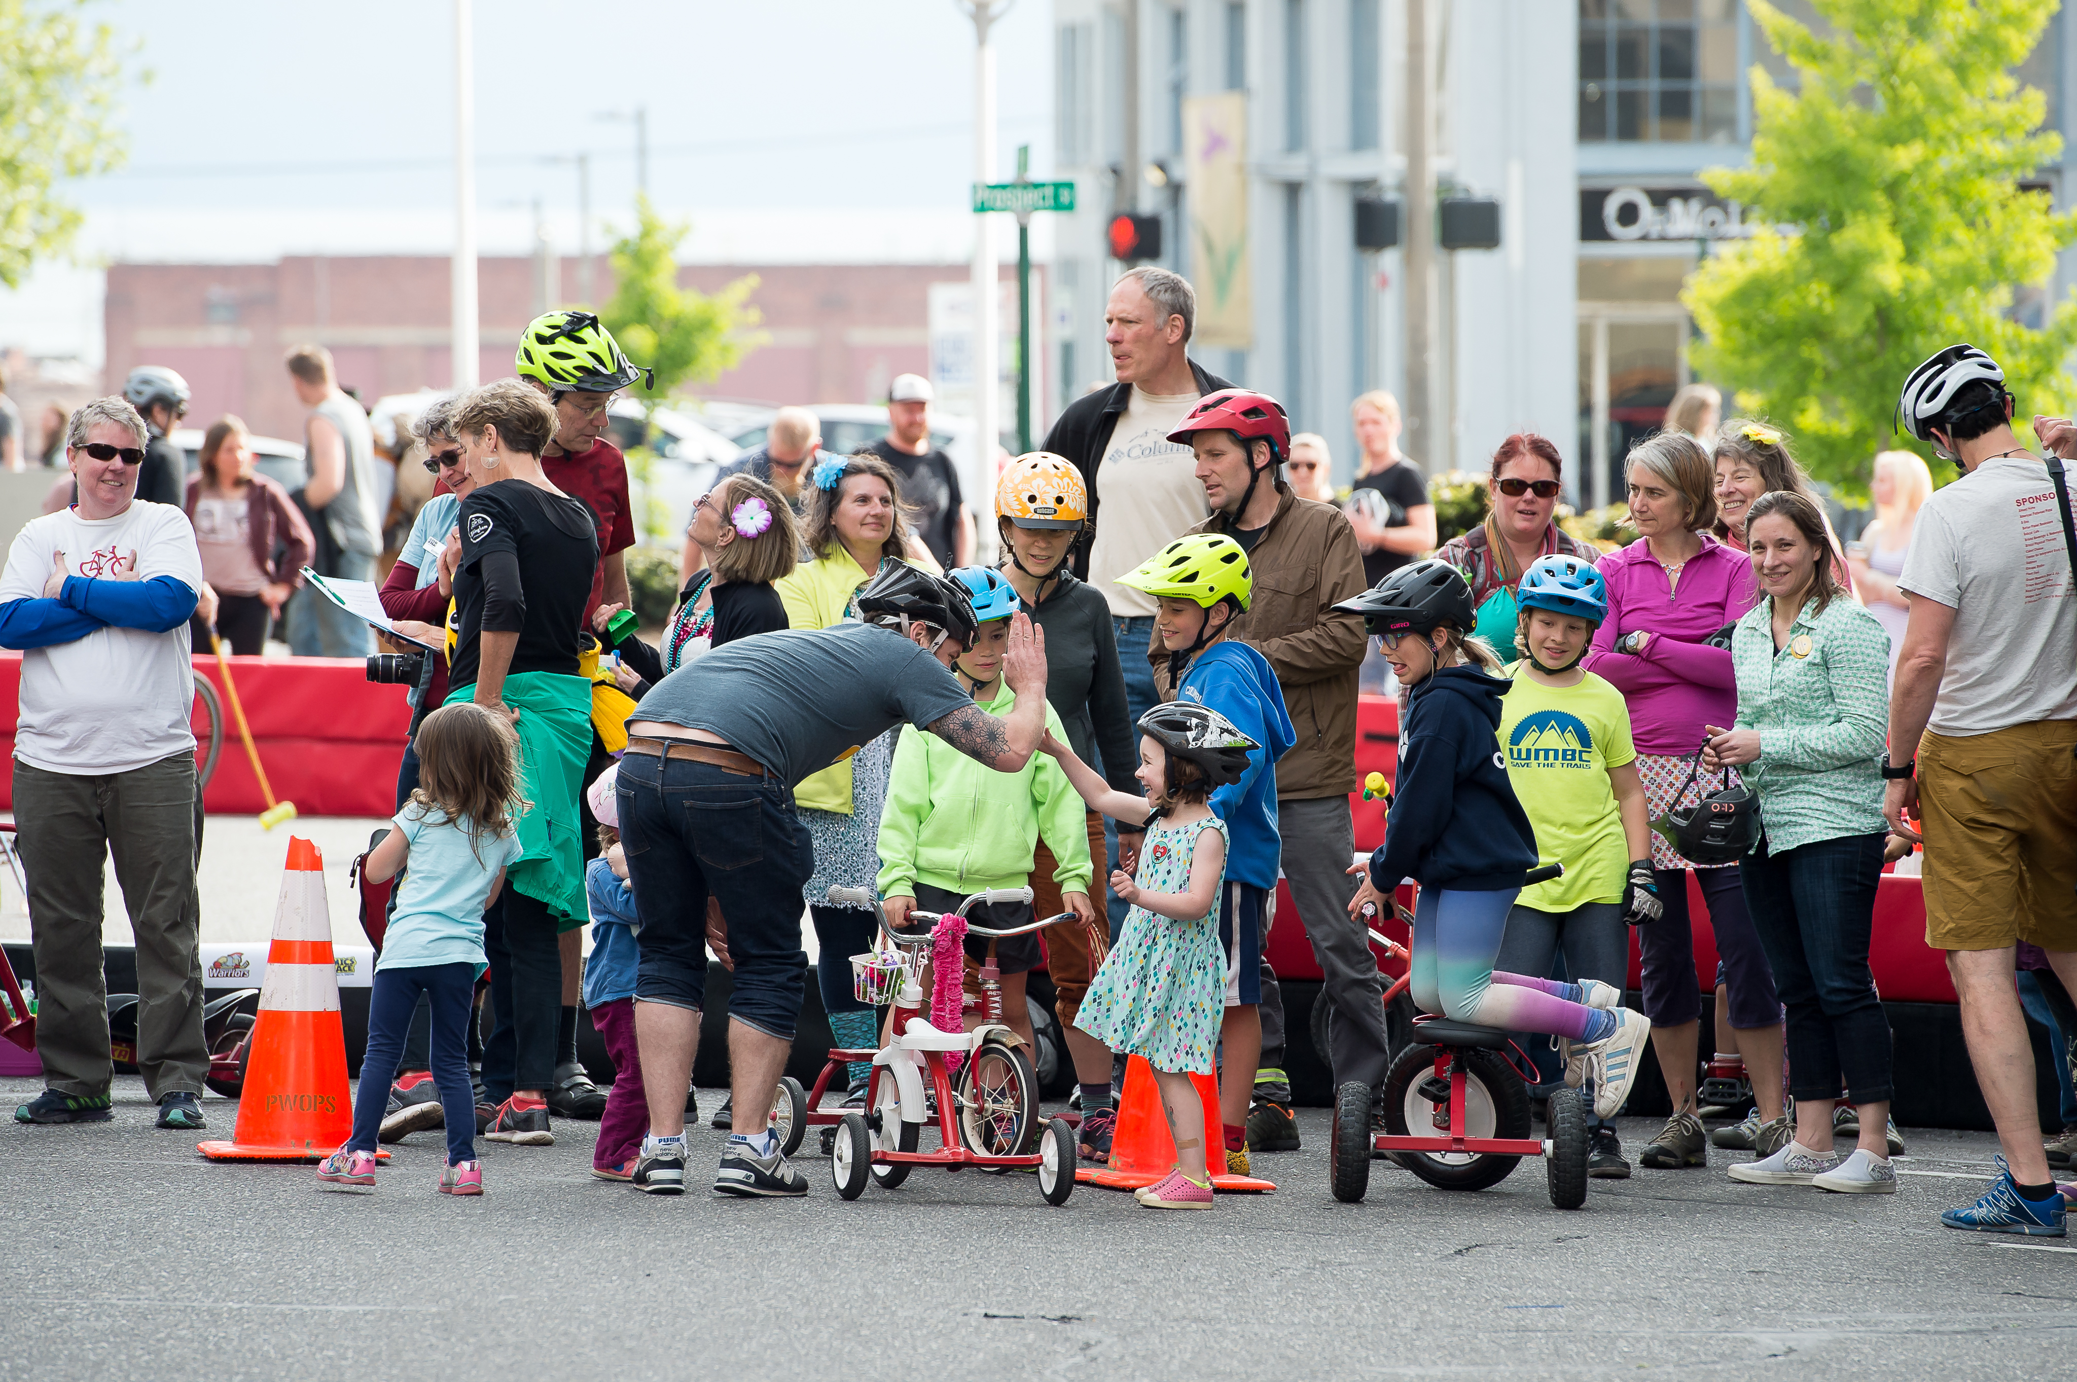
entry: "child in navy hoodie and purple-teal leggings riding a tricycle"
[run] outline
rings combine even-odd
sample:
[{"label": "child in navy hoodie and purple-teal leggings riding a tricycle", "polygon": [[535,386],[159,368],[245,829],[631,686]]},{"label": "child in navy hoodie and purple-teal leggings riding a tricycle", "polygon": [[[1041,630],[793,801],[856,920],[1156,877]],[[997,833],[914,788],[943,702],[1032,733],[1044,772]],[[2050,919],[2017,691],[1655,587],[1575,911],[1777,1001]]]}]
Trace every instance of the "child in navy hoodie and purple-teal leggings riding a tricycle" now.
[{"label": "child in navy hoodie and purple-teal leggings riding a tricycle", "polygon": [[1537,863],[1537,836],[1495,733],[1510,683],[1493,649],[1468,637],[1477,623],[1471,587],[1450,562],[1425,560],[1336,608],[1365,616],[1410,689],[1385,842],[1369,869],[1350,869],[1365,874],[1350,913],[1387,907],[1402,878],[1419,882],[1414,1004],[1462,1023],[1556,1035],[1566,1083],[1576,1089],[1593,1065],[1595,1114],[1614,1118],[1651,1035],[1643,1013],[1618,1006],[1614,984],[1493,971],[1508,909]]}]

